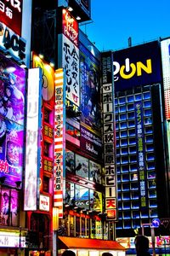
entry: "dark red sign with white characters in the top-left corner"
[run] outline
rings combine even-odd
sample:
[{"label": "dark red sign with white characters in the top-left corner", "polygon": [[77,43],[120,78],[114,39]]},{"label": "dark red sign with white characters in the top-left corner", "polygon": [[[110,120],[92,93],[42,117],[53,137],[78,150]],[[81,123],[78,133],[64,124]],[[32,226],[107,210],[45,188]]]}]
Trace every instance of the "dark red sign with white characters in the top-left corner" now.
[{"label": "dark red sign with white characters in the top-left corner", "polygon": [[0,0],[0,21],[21,36],[22,1]]}]

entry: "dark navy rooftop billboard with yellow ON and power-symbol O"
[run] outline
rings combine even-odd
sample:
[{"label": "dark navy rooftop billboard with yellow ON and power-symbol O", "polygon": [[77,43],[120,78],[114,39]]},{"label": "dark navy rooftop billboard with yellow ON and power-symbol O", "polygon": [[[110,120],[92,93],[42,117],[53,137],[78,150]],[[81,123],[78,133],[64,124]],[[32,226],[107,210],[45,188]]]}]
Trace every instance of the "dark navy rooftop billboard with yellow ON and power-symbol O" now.
[{"label": "dark navy rooftop billboard with yellow ON and power-symbol O", "polygon": [[161,82],[161,49],[158,41],[117,50],[113,58],[116,91]]}]

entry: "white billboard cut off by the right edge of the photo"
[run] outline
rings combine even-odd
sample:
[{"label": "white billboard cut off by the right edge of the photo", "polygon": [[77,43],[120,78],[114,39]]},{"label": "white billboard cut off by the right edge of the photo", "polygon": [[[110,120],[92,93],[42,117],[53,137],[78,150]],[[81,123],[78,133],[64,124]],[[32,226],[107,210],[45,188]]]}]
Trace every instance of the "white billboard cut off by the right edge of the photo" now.
[{"label": "white billboard cut off by the right edge of the photo", "polygon": [[165,97],[166,119],[170,119],[170,38],[161,41],[161,62]]}]

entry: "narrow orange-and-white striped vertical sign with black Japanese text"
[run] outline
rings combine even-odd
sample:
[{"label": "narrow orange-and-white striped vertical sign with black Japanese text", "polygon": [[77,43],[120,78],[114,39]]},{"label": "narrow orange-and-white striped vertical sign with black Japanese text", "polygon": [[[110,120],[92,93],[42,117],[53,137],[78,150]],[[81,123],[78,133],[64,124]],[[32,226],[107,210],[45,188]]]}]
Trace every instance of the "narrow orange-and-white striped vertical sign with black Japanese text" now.
[{"label": "narrow orange-and-white striped vertical sign with black Japanese text", "polygon": [[65,190],[65,87],[64,71],[55,71],[54,102],[54,207],[63,218],[63,193]]}]

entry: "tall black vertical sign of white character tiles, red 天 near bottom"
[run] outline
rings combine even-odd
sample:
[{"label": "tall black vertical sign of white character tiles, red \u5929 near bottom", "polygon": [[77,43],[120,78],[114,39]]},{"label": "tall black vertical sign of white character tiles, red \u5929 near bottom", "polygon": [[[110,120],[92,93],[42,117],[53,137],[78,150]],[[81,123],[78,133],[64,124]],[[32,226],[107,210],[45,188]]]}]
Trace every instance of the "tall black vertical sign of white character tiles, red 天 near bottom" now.
[{"label": "tall black vertical sign of white character tiles, red \u5929 near bottom", "polygon": [[112,53],[102,54],[103,137],[105,152],[105,210],[108,220],[116,220],[116,138],[114,120]]}]

